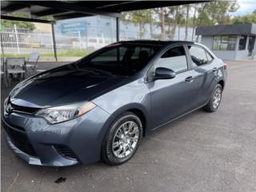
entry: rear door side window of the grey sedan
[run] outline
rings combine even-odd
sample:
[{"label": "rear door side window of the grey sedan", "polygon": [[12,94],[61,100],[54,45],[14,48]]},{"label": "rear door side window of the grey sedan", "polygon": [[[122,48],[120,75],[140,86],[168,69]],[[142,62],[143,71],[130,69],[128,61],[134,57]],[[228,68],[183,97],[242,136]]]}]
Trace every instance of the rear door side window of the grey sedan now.
[{"label": "rear door side window of the grey sedan", "polygon": [[198,46],[188,46],[190,50],[190,56],[193,62],[193,66],[206,65],[208,59],[206,57],[206,51]]}]

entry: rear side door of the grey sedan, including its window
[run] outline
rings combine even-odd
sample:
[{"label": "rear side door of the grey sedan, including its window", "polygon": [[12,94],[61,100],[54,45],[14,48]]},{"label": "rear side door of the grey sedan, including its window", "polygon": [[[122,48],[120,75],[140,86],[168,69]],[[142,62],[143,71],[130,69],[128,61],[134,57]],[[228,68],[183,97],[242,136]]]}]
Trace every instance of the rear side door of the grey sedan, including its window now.
[{"label": "rear side door of the grey sedan, including its window", "polygon": [[195,102],[197,106],[202,106],[209,101],[210,94],[216,85],[219,64],[202,46],[188,45],[187,48],[194,71],[194,82],[200,86]]}]

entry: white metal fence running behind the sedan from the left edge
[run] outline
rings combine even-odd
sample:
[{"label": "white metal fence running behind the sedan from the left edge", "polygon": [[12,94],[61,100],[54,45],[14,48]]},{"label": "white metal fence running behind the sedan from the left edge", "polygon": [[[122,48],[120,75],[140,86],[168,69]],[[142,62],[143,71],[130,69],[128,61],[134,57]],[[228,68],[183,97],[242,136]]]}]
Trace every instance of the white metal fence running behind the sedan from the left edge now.
[{"label": "white metal fence running behind the sedan from the left edge", "polygon": [[[131,40],[140,38],[138,31],[123,28],[120,31],[120,40]],[[148,28],[148,27],[147,27]],[[146,28],[146,34],[142,38],[159,38],[159,33],[154,33],[156,37],[150,35],[149,29]],[[183,27],[184,28],[184,27]],[[176,31],[175,39],[183,39],[185,35],[180,30]],[[156,28],[158,29],[158,28]],[[179,27],[178,27],[179,29]],[[191,28],[189,29],[191,32]],[[181,37],[179,37],[181,34]],[[189,33],[191,34],[191,33]],[[177,37],[176,37],[177,36]],[[114,42],[115,38],[106,38],[102,33],[102,37],[82,36],[78,34],[55,34],[56,48],[58,54],[66,52],[66,50],[97,50],[102,46],[106,46]],[[12,28],[1,30],[1,48],[5,54],[30,54],[31,52],[39,52],[40,54],[53,54],[54,45],[51,32],[40,32],[34,30],[18,29],[15,25]],[[66,55],[67,57],[69,55]]]}]

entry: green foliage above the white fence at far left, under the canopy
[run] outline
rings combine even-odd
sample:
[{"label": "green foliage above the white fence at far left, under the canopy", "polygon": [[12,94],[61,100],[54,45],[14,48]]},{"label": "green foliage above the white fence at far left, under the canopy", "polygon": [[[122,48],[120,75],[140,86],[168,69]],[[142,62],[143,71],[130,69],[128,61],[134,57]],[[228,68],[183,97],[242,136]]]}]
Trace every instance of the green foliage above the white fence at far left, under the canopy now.
[{"label": "green foliage above the white fence at far left, under the canopy", "polygon": [[[22,13],[14,13],[14,14],[10,14],[10,16],[20,17],[20,18],[28,18],[27,14],[22,14]],[[2,26],[14,27],[14,24],[18,28],[22,28],[22,29],[26,29],[26,30],[34,30],[35,29],[33,22],[20,22],[20,21],[11,21],[11,20],[6,20],[6,19],[1,19]]]}]

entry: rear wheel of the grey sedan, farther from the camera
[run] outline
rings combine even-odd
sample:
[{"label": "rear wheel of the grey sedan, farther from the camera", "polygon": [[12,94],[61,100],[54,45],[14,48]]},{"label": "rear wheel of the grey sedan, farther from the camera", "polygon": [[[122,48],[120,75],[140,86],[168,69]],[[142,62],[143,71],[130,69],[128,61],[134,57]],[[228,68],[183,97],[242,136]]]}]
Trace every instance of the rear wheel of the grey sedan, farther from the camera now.
[{"label": "rear wheel of the grey sedan, farther from the camera", "polygon": [[214,87],[213,94],[210,96],[210,101],[204,106],[204,110],[208,112],[214,112],[218,110],[218,106],[222,100],[222,86],[217,84]]}]

